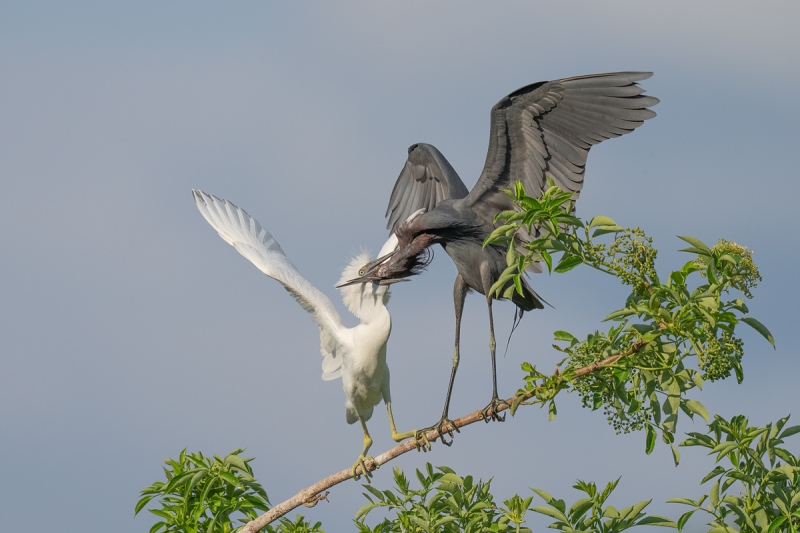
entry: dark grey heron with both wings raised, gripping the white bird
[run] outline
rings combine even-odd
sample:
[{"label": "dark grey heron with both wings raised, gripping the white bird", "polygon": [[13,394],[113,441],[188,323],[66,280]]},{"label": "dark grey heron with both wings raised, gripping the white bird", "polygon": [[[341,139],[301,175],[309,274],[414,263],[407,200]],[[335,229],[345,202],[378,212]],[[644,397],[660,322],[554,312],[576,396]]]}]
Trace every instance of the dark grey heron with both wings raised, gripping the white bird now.
[{"label": "dark grey heron with both wings raised, gripping the white bird", "polygon": [[[651,72],[616,72],[539,82],[514,91],[492,108],[489,150],[483,172],[471,191],[444,156],[429,144],[414,144],[397,178],[389,200],[387,225],[397,235],[398,247],[373,261],[364,276],[350,280],[402,279],[420,270],[427,260],[429,246],[440,244],[458,269],[453,300],[456,314],[455,350],[450,384],[437,429],[452,437],[455,425],[448,418],[450,394],[459,362],[461,312],[469,290],[483,295],[506,268],[506,253],[501,246],[483,248],[484,239],[495,229],[494,217],[503,210],[515,209],[503,192],[517,181],[530,196],[539,196],[547,179],[576,199],[583,187],[583,174],[589,149],[606,139],[633,131],[655,116],[648,109],[658,99],[645,96],[637,85]],[[427,210],[405,221],[409,213]],[[521,237],[523,246],[536,235]],[[539,296],[523,281],[523,294],[516,291],[511,301],[522,311],[543,308]],[[492,297],[489,307],[489,347],[492,359],[492,399],[483,417],[502,421],[498,408],[505,405],[497,395],[495,338]],[[427,431],[427,430],[422,430]]]}]

